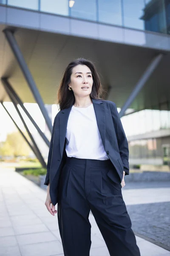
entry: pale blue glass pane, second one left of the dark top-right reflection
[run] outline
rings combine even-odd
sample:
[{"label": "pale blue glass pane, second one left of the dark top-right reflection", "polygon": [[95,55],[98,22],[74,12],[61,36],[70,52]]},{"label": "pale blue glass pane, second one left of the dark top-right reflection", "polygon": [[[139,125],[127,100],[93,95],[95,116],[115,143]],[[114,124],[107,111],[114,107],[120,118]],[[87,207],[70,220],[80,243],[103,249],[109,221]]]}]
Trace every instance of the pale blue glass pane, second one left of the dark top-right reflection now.
[{"label": "pale blue glass pane, second one left of the dark top-right reflection", "polygon": [[98,0],[99,21],[122,26],[121,0]]}]

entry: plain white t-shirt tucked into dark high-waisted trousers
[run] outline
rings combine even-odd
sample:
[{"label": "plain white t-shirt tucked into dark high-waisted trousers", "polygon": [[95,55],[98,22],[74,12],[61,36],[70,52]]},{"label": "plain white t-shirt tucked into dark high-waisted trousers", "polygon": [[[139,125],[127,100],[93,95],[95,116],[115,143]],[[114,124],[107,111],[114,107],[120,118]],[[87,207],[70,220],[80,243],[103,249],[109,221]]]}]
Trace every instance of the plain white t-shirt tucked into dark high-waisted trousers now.
[{"label": "plain white t-shirt tucked into dark high-waisted trousers", "polygon": [[109,159],[99,134],[93,104],[87,108],[72,106],[68,117],[65,151],[68,157]]}]

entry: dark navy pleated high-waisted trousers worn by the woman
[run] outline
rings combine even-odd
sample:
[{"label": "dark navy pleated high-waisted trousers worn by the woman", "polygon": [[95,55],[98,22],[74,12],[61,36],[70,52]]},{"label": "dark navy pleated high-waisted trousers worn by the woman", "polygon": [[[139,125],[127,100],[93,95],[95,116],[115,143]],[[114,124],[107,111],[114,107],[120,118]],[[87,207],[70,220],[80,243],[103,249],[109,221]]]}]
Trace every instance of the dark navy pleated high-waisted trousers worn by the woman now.
[{"label": "dark navy pleated high-waisted trousers worn by the woman", "polygon": [[[115,182],[107,172],[112,169]],[[90,210],[111,256],[140,256],[111,160],[67,157],[59,180],[57,215],[65,256],[89,256]]]}]

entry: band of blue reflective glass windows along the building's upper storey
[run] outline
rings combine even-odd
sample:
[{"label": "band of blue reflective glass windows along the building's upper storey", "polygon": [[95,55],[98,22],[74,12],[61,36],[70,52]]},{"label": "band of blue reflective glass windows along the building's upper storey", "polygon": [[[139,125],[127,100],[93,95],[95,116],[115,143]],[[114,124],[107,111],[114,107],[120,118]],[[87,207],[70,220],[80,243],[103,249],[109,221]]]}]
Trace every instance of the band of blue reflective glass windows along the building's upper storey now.
[{"label": "band of blue reflective glass windows along the building's upper storey", "polygon": [[0,3],[170,34],[170,0],[0,0]]}]

